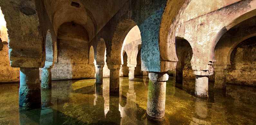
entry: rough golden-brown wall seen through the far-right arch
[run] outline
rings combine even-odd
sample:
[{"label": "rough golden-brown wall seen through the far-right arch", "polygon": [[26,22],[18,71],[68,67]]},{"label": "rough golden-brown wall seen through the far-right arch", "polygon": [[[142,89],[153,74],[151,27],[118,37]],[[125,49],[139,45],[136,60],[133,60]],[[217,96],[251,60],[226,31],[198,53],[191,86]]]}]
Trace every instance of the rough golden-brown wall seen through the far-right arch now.
[{"label": "rough golden-brown wall seen through the far-right arch", "polygon": [[256,86],[256,37],[239,43],[231,54],[227,83]]}]

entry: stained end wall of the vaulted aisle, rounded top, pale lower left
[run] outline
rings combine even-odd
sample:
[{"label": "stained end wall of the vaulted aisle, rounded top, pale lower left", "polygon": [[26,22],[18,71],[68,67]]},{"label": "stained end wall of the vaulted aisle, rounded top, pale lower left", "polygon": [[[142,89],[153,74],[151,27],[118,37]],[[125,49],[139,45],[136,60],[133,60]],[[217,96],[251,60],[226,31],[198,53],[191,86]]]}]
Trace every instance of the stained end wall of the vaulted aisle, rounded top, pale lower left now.
[{"label": "stained end wall of the vaulted aisle, rounded top, pale lower left", "polygon": [[52,79],[94,78],[95,67],[89,64],[86,30],[76,23],[64,23],[58,31],[58,62],[52,68]]}]

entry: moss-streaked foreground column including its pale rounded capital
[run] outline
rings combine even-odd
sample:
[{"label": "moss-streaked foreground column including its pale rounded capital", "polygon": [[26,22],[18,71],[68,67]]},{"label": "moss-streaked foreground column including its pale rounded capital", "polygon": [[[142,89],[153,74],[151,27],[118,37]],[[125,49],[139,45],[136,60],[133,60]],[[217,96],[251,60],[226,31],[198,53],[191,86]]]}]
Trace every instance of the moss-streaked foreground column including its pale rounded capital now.
[{"label": "moss-streaked foreground column including its pale rounded capital", "polygon": [[162,122],[165,119],[165,99],[167,73],[149,72],[150,79],[147,95],[147,118],[150,121]]}]

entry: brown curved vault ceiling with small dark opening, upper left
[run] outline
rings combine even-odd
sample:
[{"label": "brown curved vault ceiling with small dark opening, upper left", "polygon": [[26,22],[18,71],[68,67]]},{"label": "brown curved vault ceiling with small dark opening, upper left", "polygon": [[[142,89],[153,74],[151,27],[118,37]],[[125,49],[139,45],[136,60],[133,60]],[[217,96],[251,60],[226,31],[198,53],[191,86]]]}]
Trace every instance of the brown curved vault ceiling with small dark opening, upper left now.
[{"label": "brown curved vault ceiling with small dark opening, upper left", "polygon": [[[65,22],[82,25],[91,40],[128,0],[43,0],[55,33]],[[71,6],[79,4],[79,8]]]}]

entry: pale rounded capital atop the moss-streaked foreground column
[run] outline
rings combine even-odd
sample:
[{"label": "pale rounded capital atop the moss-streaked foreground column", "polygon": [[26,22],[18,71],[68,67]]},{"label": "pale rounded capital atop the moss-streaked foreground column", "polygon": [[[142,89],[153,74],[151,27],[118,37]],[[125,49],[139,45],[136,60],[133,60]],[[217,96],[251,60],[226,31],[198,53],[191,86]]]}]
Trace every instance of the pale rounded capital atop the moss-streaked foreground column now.
[{"label": "pale rounded capital atop the moss-streaked foreground column", "polygon": [[148,77],[150,80],[158,81],[158,82],[165,82],[168,81],[169,75],[167,72],[158,73],[158,72],[149,72]]}]

